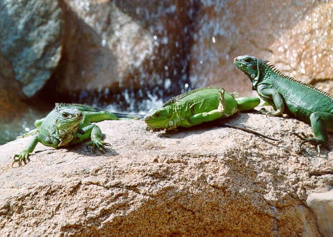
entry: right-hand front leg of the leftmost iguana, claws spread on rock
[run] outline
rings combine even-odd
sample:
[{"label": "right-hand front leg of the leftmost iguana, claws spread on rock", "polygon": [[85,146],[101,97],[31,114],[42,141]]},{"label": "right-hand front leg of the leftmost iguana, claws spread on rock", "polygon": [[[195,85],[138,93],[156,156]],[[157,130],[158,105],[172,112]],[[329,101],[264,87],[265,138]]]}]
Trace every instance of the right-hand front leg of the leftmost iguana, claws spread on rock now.
[{"label": "right-hand front leg of the leftmost iguana, claws spread on rock", "polygon": [[106,145],[110,145],[102,140],[103,133],[96,124],[90,124],[82,128],[81,133],[77,133],[77,137],[71,141],[70,144],[78,144],[84,140],[91,138],[91,142],[87,144],[87,147],[91,146],[92,150],[98,149],[100,152],[104,153],[104,150],[110,151]]}]

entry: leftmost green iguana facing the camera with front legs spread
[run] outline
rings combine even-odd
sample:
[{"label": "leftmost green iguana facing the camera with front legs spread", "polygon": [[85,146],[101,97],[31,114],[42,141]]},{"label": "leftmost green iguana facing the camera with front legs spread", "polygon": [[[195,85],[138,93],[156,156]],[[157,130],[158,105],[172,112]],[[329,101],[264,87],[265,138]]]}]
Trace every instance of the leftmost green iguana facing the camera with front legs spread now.
[{"label": "leftmost green iguana facing the camera with front legs spread", "polygon": [[[45,146],[59,148],[78,144],[91,137],[91,142],[87,144],[92,149],[109,150],[102,141],[102,132],[93,122],[103,120],[119,120],[119,118],[141,118],[140,115],[117,114],[109,111],[81,104],[55,104],[45,118],[36,120],[36,129],[24,134],[23,136],[34,135],[26,149],[20,154],[15,154],[14,162],[26,162],[32,151],[40,142]],[[16,158],[18,157],[18,158]]]}]

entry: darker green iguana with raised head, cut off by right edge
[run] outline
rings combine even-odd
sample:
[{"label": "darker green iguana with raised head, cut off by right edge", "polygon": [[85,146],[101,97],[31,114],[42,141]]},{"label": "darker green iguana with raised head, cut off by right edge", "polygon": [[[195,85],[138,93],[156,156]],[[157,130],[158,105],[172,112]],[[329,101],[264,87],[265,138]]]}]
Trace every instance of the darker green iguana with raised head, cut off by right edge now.
[{"label": "darker green iguana with raised head, cut off by right edge", "polygon": [[269,112],[262,108],[266,116],[278,116],[286,113],[291,117],[311,124],[314,136],[304,133],[296,135],[303,141],[317,146],[328,141],[328,132],[333,132],[333,96],[309,84],[303,83],[280,73],[269,61],[250,55],[238,56],[234,64],[243,71],[252,82],[252,90],[274,110]]}]

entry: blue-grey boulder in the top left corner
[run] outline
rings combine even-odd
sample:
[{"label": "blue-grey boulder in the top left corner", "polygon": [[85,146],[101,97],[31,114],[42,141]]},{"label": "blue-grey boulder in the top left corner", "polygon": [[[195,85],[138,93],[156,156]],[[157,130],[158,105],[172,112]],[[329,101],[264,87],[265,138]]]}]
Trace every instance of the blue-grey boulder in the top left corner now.
[{"label": "blue-grey boulder in the top left corner", "polygon": [[54,0],[5,0],[0,9],[0,51],[23,94],[32,97],[60,59],[61,9]]}]

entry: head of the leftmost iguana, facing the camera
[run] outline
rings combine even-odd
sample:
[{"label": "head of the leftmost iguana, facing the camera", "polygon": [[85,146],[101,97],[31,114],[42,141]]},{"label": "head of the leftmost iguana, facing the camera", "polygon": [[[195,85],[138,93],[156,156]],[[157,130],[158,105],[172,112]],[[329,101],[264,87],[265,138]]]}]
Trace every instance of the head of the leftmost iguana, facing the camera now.
[{"label": "head of the leftmost iguana, facing the camera", "polygon": [[55,106],[55,133],[61,137],[76,132],[83,119],[83,114],[76,108],[61,108]]}]

